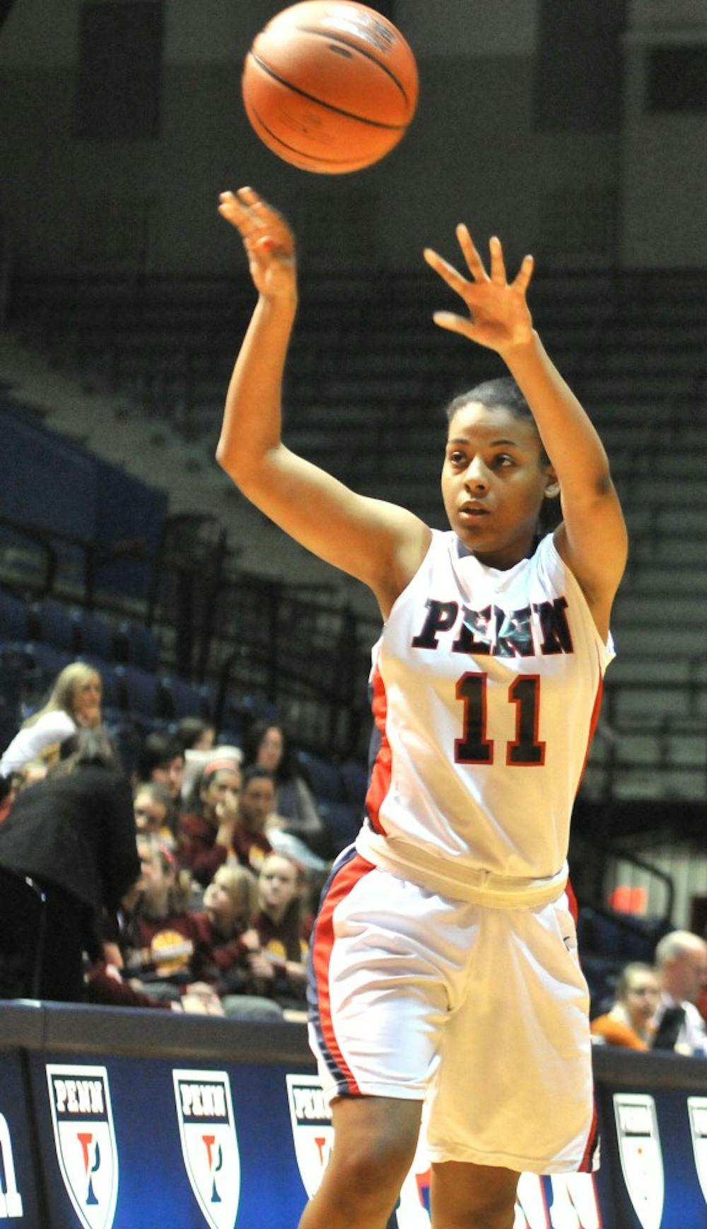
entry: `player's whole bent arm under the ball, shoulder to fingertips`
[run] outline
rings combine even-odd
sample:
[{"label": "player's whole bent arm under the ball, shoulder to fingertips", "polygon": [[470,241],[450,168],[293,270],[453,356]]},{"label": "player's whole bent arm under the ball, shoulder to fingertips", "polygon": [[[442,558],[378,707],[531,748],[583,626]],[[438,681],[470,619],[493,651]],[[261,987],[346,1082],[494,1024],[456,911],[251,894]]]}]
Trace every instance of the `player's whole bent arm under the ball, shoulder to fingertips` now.
[{"label": "player's whole bent arm under the ball, shoulder to fingertips", "polygon": [[218,211],[243,238],[258,302],[228,386],[216,460],[286,533],[369,585],[387,613],[419,567],[430,531],[282,444],[282,374],[297,310],[295,241],[285,219],[250,188],[223,193]]}]

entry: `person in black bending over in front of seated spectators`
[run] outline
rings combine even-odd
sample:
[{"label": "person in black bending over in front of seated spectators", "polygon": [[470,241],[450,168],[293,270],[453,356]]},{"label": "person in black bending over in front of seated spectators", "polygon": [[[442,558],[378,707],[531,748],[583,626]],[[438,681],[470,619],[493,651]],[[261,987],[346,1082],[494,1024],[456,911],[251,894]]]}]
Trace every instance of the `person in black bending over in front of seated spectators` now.
[{"label": "person in black bending over in front of seated spectators", "polygon": [[[115,909],[135,881],[135,820],[130,785],[101,729],[61,744],[45,780],[25,789],[0,827],[0,868],[31,876],[44,897],[43,943],[0,893],[0,997],[26,993],[38,962],[41,998],[83,998],[83,952],[101,955],[101,911]],[[2,977],[2,968],[5,976]]]}]

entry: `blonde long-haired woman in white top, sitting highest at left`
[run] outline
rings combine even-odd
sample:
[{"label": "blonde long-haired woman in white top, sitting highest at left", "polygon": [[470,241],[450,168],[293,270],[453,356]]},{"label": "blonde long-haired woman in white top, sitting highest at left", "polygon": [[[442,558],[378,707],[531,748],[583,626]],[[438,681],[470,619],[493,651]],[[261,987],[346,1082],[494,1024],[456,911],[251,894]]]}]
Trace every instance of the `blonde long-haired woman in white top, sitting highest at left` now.
[{"label": "blonde long-haired woman in white top, sitting highest at left", "polygon": [[101,725],[101,675],[72,661],[54,680],[42,708],[28,717],[0,758],[0,777],[11,777],[29,760],[56,760],[59,745],[77,729]]}]

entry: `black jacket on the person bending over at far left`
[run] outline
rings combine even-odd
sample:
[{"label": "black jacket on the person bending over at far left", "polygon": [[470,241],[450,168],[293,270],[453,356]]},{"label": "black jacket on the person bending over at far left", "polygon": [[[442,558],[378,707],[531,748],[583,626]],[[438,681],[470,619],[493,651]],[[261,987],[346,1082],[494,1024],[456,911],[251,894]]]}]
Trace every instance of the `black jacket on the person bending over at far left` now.
[{"label": "black jacket on the person bending over at far left", "polygon": [[0,866],[115,909],[140,874],[128,780],[86,764],[28,785],[0,823]]}]

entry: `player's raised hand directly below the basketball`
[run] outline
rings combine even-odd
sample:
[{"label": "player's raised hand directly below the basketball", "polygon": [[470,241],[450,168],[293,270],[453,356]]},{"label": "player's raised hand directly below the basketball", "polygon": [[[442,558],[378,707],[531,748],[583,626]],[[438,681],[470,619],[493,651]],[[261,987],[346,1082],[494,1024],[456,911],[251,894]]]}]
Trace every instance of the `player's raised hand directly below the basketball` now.
[{"label": "player's raised hand directly below the basketball", "polygon": [[243,240],[258,293],[269,299],[296,297],[295,236],[282,214],[253,188],[222,192],[218,213]]}]

